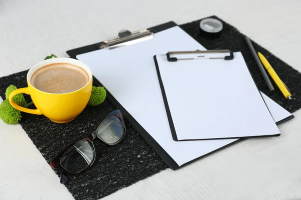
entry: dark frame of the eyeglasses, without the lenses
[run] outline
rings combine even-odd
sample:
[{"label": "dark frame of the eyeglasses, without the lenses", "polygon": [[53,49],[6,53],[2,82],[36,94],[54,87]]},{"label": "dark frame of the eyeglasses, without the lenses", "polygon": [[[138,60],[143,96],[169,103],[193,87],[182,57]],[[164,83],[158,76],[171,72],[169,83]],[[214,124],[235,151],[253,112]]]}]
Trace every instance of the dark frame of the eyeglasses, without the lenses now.
[{"label": "dark frame of the eyeglasses, without the lenses", "polygon": [[[121,124],[122,124],[122,127],[123,127],[123,132],[122,132],[122,136],[120,137],[119,140],[117,140],[115,143],[108,143],[106,141],[104,141],[101,137],[99,137],[97,135],[97,129],[101,126],[101,124],[109,117],[111,116],[116,116],[119,118],[119,120],[121,121]],[[129,123],[129,122],[128,122]],[[80,139],[80,140],[77,140],[75,142],[72,142],[70,144],[68,144],[50,163],[49,165],[52,167],[52,169],[54,170],[60,170],[62,171],[62,175],[61,175],[61,180],[60,182],[61,183],[66,183],[68,181],[68,174],[79,174],[79,173],[82,173],[84,171],[86,171],[88,168],[91,167],[91,165],[94,163],[95,159],[96,159],[96,152],[95,152],[95,147],[94,147],[94,144],[93,144],[93,140],[97,137],[98,139],[100,139],[101,141],[103,141],[104,143],[106,144],[109,144],[109,145],[115,145],[117,143],[119,143],[122,138],[124,137],[125,133],[126,133],[126,126],[129,126],[129,124],[125,125],[125,122],[123,120],[123,116],[122,116],[122,113],[119,109],[117,110],[114,110],[112,112],[110,112],[108,115],[106,115],[104,117],[104,119],[97,125],[96,129],[91,133],[89,134],[87,137],[83,138],[83,139]],[[72,147],[73,145],[75,145],[76,143],[78,142],[81,142],[81,141],[88,141],[89,144],[92,146],[92,149],[93,149],[93,159],[92,161],[84,168],[82,169],[81,171],[79,172],[76,172],[76,173],[73,173],[73,172],[69,172],[68,170],[66,170],[60,163],[60,158],[62,157],[62,155],[70,148]]]}]

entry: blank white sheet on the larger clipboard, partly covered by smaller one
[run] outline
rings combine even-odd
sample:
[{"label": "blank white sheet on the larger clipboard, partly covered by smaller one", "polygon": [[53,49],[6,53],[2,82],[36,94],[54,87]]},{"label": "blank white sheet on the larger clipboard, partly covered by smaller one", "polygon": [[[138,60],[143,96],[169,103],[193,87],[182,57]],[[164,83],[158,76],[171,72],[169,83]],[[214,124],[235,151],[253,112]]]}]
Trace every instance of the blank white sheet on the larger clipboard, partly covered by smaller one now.
[{"label": "blank white sheet on the larger clipboard, partly covered by smaller one", "polygon": [[[94,77],[180,166],[236,140],[179,142],[172,138],[153,56],[170,50],[191,49],[205,50],[184,30],[175,26],[155,33],[154,38],[147,41],[77,55],[91,68]],[[278,105],[277,109],[283,108]]]}]

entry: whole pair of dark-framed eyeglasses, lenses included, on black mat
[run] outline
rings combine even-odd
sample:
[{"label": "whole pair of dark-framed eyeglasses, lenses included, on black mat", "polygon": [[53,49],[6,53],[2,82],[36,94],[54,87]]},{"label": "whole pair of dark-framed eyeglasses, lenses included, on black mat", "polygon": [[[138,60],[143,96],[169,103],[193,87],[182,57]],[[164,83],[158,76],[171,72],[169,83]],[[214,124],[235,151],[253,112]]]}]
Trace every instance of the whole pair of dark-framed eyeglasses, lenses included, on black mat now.
[{"label": "whole pair of dark-framed eyeglasses, lenses included, on black mat", "polygon": [[51,162],[50,166],[62,171],[61,183],[68,181],[68,174],[77,174],[89,168],[95,160],[93,140],[97,137],[106,144],[117,144],[125,135],[126,128],[120,110],[109,113],[86,138],[69,144]]}]

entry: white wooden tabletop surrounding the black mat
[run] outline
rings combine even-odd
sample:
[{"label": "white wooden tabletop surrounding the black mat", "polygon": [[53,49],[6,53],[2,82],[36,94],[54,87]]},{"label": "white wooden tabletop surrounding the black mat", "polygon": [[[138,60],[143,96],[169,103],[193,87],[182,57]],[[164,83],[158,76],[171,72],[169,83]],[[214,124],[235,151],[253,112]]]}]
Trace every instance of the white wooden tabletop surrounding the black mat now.
[{"label": "white wooden tabletop surrounding the black mat", "polygon": [[[120,29],[213,14],[300,71],[300,10],[300,0],[1,0],[0,76]],[[301,199],[301,110],[293,114],[280,137],[244,140],[103,199]],[[73,199],[21,126],[2,120],[0,199]]]}]

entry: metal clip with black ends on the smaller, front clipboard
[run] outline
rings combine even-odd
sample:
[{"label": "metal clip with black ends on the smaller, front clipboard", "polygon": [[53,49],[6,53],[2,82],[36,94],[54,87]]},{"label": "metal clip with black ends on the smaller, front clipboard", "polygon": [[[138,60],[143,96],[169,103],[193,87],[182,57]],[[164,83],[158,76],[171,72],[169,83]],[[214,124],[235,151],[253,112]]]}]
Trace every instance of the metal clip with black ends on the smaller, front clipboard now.
[{"label": "metal clip with black ends on the smaller, front clipboard", "polygon": [[[227,56],[223,57],[208,57],[206,55],[197,55],[194,57],[189,57],[189,58],[177,58],[177,57],[171,57],[171,54],[196,54],[196,53],[229,53]],[[198,57],[205,57],[207,59],[225,59],[225,60],[230,60],[233,59],[234,55],[233,52],[230,51],[229,49],[221,49],[221,50],[189,50],[189,51],[169,51],[166,53],[168,61],[177,61],[180,59],[196,59]]]}]

